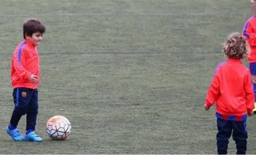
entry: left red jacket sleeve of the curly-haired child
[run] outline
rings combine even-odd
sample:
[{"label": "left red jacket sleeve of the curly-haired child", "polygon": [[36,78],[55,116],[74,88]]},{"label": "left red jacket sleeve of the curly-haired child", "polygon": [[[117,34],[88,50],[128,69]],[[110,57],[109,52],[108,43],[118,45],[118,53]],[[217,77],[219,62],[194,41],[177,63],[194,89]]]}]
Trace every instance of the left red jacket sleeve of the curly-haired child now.
[{"label": "left red jacket sleeve of the curly-haired child", "polygon": [[219,97],[219,70],[216,71],[206,94],[205,105],[211,107]]}]

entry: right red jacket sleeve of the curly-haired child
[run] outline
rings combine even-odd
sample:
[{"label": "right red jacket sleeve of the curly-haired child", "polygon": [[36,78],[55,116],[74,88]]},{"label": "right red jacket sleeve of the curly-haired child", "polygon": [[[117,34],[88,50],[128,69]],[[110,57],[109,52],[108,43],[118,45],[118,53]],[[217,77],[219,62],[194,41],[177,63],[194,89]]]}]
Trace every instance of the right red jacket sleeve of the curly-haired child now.
[{"label": "right red jacket sleeve of the curly-haired child", "polygon": [[254,107],[254,91],[253,91],[253,83],[251,82],[250,72],[247,72],[245,78],[245,99],[246,99],[246,109],[247,112],[251,112]]}]

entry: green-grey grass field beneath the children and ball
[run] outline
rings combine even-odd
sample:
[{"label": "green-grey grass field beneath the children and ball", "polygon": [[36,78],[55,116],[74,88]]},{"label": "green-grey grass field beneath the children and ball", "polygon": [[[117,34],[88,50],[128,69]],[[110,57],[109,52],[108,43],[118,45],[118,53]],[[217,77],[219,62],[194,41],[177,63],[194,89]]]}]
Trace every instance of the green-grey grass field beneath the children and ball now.
[{"label": "green-grey grass field beneath the children and ball", "polygon": [[[4,154],[215,154],[215,109],[203,109],[221,43],[251,16],[243,0],[0,1],[0,152]],[[37,133],[14,142],[11,54],[25,19],[46,26]],[[247,62],[245,62],[247,64]],[[67,117],[65,141],[46,121]],[[255,116],[247,153],[255,153]],[[19,123],[25,133],[25,117]],[[229,153],[235,154],[230,140]]]}]

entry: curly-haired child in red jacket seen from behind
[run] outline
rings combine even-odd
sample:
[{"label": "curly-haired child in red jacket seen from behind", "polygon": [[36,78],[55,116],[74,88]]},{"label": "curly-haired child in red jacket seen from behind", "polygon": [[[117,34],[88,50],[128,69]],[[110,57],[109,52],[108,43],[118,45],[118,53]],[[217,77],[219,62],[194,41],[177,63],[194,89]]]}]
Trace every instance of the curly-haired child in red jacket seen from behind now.
[{"label": "curly-haired child in red jacket seen from behind", "polygon": [[250,71],[241,59],[249,54],[250,47],[239,33],[235,32],[223,43],[226,62],[218,64],[205,99],[208,111],[216,102],[218,154],[227,154],[229,138],[237,145],[237,154],[247,149],[247,114],[253,115],[254,92]]}]

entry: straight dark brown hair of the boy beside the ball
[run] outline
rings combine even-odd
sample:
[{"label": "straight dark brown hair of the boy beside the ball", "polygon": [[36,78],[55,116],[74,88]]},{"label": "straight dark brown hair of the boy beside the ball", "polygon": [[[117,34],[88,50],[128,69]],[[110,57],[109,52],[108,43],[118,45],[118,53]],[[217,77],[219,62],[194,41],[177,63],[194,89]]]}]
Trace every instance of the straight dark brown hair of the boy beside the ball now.
[{"label": "straight dark brown hair of the boy beside the ball", "polygon": [[45,26],[39,21],[39,19],[31,18],[23,24],[23,38],[26,39],[26,35],[32,36],[35,32],[45,33]]}]

